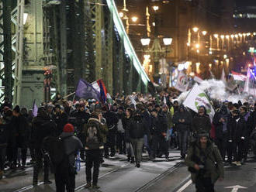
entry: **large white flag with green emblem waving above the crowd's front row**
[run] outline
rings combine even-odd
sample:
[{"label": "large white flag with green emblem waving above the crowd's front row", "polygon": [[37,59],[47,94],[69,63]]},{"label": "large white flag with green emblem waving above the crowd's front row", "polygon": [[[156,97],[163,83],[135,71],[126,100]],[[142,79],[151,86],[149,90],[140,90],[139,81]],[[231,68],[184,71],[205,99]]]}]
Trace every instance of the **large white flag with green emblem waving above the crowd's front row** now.
[{"label": "large white flag with green emblem waving above the crowd's front row", "polygon": [[198,84],[195,84],[194,87],[192,87],[192,90],[189,92],[187,98],[185,98],[183,105],[195,112],[198,112],[199,107],[203,105],[206,108],[206,113],[209,115],[210,119],[213,119],[215,114],[213,106],[209,102],[209,98],[206,93],[200,89]]}]

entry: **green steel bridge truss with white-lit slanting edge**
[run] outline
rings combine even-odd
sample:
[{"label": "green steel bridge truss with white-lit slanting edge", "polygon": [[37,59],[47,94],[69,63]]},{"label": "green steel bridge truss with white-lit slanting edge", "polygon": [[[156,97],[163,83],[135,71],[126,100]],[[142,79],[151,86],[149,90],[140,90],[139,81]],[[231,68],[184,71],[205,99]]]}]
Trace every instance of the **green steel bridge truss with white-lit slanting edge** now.
[{"label": "green steel bridge truss with white-lit slanting edge", "polygon": [[102,79],[110,94],[150,82],[114,0],[0,0],[0,97],[30,106]]}]

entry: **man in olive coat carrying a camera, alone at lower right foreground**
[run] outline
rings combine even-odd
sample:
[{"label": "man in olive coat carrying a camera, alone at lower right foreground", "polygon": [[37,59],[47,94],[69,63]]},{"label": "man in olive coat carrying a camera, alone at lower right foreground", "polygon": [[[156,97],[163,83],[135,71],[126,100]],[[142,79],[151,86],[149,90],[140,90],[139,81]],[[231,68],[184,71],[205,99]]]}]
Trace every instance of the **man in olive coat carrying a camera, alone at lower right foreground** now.
[{"label": "man in olive coat carrying a camera, alone at lower right foreground", "polygon": [[214,192],[216,180],[224,178],[223,160],[208,132],[200,132],[198,138],[190,146],[185,164],[189,166],[196,192]]}]

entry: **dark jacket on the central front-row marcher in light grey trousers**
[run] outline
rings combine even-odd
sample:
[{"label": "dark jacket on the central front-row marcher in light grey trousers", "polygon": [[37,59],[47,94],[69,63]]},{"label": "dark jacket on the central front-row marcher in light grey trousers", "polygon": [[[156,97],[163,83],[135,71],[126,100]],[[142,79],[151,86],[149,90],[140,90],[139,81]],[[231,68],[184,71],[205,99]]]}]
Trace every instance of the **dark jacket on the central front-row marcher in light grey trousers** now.
[{"label": "dark jacket on the central front-row marcher in light grey trousers", "polygon": [[141,139],[144,138],[144,135],[148,135],[147,125],[142,118],[139,121],[134,118],[130,119],[127,128],[130,139]]}]

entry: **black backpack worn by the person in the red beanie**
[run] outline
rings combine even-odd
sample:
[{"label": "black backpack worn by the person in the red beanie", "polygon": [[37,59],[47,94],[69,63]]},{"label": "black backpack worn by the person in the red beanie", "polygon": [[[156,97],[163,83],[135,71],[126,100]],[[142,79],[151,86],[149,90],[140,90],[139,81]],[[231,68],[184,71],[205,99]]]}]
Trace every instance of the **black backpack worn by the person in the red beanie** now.
[{"label": "black backpack worn by the person in the red beanie", "polygon": [[[71,136],[72,135],[67,136],[64,139]],[[64,148],[64,139],[54,136],[48,136],[43,139],[43,155],[54,169],[64,162],[64,159],[67,159]]]}]

